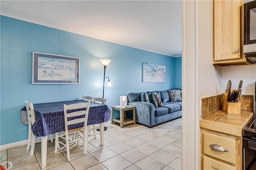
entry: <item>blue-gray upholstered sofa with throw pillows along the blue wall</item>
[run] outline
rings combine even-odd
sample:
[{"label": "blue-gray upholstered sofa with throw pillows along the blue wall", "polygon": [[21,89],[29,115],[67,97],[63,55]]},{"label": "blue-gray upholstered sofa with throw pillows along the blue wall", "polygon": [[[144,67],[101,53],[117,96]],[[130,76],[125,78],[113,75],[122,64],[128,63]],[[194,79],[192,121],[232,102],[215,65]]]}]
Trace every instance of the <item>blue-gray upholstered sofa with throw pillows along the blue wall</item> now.
[{"label": "blue-gray upholstered sofa with throw pillows along the blue wall", "polygon": [[[182,115],[182,102],[170,101],[170,95],[168,91],[155,91],[161,101],[162,107],[155,108],[152,103],[143,102],[142,93],[129,93],[128,105],[136,107],[136,122],[147,127],[154,127],[154,125],[170,121],[181,117]],[[153,92],[147,92],[154,93]]]}]

